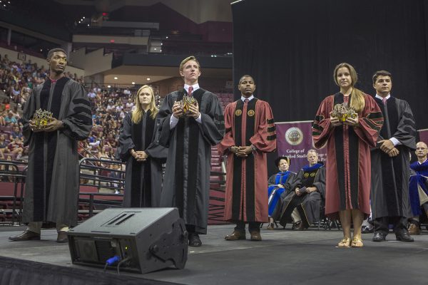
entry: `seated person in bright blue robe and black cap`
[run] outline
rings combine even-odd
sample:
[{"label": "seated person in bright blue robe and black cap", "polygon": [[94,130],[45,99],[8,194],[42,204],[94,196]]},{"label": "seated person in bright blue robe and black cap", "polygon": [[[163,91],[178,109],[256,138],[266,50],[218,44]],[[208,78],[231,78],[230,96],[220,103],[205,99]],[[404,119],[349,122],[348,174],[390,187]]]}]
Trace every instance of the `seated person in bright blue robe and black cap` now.
[{"label": "seated person in bright blue robe and black cap", "polygon": [[285,196],[290,194],[290,187],[296,176],[295,172],[288,171],[290,167],[290,158],[286,156],[278,157],[275,160],[275,165],[277,165],[280,172],[275,175],[272,175],[267,183],[269,187],[267,188],[267,195],[269,195],[269,224],[267,224],[267,229],[274,229],[275,219],[278,217],[281,212],[281,195],[285,192]]}]

